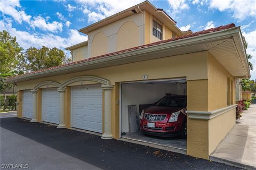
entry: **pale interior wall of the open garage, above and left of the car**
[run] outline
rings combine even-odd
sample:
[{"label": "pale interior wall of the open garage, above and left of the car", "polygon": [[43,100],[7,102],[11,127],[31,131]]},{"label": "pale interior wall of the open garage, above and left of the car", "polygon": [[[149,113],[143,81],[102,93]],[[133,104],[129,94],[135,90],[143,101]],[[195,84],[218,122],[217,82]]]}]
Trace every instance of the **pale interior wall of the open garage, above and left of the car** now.
[{"label": "pale interior wall of the open garage, above and left of the car", "polygon": [[184,95],[184,89],[186,84],[181,83],[122,84],[122,132],[129,132],[127,105],[153,104],[165,94]]}]

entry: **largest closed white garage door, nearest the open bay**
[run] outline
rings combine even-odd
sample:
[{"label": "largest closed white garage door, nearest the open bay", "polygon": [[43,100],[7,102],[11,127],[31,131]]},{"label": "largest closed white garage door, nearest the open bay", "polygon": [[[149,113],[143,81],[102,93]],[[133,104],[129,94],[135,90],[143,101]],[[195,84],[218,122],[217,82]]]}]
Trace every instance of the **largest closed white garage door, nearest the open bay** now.
[{"label": "largest closed white garage door, nearest the open bay", "polygon": [[71,88],[71,125],[102,133],[102,88],[100,84]]}]

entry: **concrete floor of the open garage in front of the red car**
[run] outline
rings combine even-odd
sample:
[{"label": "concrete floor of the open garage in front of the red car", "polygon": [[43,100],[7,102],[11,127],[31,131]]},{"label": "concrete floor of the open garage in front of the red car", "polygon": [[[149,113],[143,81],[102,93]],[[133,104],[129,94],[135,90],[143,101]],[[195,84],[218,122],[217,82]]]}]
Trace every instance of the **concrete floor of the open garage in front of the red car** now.
[{"label": "concrete floor of the open garage in front of the red car", "polygon": [[179,139],[178,137],[172,138],[161,138],[161,137],[154,137],[151,135],[143,134],[141,131],[133,132],[133,133],[126,133],[122,135],[122,138],[135,140],[139,142],[146,142],[152,143],[154,145],[169,147],[170,150],[174,152],[179,152],[181,154],[186,154],[187,152],[187,140],[186,139]]}]

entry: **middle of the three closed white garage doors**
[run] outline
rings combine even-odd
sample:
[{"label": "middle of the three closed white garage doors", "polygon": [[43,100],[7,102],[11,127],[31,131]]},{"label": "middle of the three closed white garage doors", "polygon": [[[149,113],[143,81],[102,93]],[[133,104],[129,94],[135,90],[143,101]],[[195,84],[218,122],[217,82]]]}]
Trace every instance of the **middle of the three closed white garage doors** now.
[{"label": "middle of the three closed white garage doors", "polygon": [[57,88],[42,90],[42,120],[55,124],[60,122],[60,94]]}]

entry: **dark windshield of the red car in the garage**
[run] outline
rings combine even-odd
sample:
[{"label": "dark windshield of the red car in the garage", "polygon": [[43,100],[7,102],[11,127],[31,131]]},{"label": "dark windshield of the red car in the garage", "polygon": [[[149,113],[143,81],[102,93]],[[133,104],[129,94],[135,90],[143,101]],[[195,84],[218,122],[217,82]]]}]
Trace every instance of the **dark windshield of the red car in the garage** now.
[{"label": "dark windshield of the red car in the garage", "polygon": [[185,97],[163,97],[159,100],[155,106],[161,107],[185,107],[186,98]]}]

